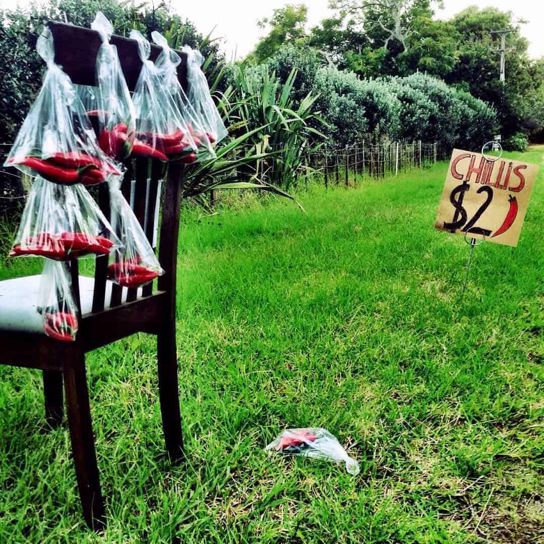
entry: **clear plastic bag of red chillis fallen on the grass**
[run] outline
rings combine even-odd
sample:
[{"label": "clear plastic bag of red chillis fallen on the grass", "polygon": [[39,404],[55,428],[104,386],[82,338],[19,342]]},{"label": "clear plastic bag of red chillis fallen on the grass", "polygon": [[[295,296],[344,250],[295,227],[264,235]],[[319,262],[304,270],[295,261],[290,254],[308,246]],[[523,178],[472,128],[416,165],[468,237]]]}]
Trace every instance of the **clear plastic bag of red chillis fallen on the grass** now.
[{"label": "clear plastic bag of red chillis fallen on the grass", "polygon": [[289,455],[302,455],[337,463],[344,461],[349,474],[355,476],[360,472],[357,461],[350,458],[336,437],[320,427],[286,429],[265,448],[272,449]]}]

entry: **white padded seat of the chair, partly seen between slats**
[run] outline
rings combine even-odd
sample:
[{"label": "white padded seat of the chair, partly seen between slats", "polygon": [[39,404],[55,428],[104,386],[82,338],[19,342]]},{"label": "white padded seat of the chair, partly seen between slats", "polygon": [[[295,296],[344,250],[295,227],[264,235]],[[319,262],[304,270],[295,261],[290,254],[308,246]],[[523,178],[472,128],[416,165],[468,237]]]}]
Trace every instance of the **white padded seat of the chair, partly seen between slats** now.
[{"label": "white padded seat of the chair, partly seen between slats", "polygon": [[[0,281],[0,330],[20,332],[44,332],[38,313],[38,291],[40,275],[16,277]],[[113,282],[106,282],[106,304],[109,308]],[[83,315],[92,310],[94,277],[79,276],[79,296]],[[138,291],[140,295],[141,290]],[[122,302],[127,299],[128,290],[123,288]]]}]

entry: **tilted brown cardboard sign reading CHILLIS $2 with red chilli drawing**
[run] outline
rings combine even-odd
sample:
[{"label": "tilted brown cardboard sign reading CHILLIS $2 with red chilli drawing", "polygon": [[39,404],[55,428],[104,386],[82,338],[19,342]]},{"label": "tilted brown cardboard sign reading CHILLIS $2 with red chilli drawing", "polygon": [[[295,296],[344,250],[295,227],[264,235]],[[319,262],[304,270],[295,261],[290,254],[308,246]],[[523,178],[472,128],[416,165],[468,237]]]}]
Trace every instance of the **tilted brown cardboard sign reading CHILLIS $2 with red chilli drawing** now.
[{"label": "tilted brown cardboard sign reading CHILLIS $2 with red chilli drawing", "polygon": [[538,169],[536,164],[454,149],[435,228],[517,245]]}]

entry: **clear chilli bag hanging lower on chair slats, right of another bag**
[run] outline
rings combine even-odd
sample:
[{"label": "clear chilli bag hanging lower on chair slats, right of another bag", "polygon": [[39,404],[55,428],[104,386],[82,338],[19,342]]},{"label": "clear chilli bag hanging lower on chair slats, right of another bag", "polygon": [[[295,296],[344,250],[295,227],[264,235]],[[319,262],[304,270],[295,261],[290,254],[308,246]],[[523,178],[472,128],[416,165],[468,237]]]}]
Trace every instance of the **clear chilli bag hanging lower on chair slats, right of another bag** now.
[{"label": "clear chilli bag hanging lower on chair slats, right of another bag", "polygon": [[122,246],[112,252],[108,279],[123,287],[140,287],[164,270],[119,184],[111,183],[109,189],[112,228]]}]

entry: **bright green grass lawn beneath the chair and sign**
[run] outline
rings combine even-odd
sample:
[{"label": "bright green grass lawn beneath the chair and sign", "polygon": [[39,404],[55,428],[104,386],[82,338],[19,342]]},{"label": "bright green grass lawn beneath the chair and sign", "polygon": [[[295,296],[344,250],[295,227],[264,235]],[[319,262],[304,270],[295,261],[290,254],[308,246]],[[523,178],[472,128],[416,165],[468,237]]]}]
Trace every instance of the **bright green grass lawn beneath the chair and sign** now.
[{"label": "bright green grass lawn beneath the chair and sign", "polygon": [[[541,169],[520,243],[474,250],[463,302],[467,245],[432,228],[446,163],[311,187],[306,216],[250,196],[184,211],[186,463],[163,454],[153,338],[90,354],[108,517],[90,533],[40,374],[1,367],[0,541],[536,542],[544,147],[523,158]],[[361,474],[265,454],[286,426],[324,426]]]}]

